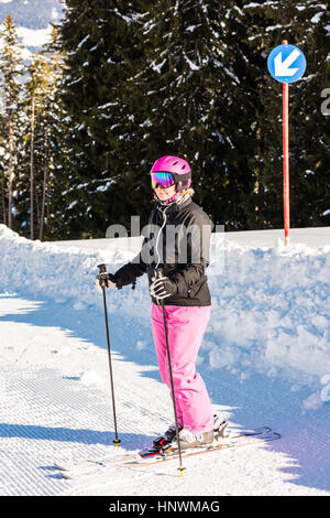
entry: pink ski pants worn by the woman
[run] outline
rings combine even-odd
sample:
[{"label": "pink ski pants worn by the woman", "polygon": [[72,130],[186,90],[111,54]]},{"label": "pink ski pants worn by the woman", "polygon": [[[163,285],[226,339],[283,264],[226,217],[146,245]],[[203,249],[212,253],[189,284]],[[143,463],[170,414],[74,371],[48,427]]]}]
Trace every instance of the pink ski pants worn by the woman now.
[{"label": "pink ski pants worn by the woman", "polygon": [[[211,401],[202,378],[196,373],[196,358],[210,312],[210,306],[165,305],[178,424],[194,433],[213,429]],[[152,330],[161,376],[170,390],[161,305],[152,304]]]}]

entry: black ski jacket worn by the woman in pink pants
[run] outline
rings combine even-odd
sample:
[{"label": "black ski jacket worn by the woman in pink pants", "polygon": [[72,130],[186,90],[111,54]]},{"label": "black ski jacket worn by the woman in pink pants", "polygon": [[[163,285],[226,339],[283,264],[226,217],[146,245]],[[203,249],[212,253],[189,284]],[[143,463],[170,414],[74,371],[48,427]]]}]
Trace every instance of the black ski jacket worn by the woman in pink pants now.
[{"label": "black ski jacket worn by the woman in pink pants", "polygon": [[[163,268],[175,287],[165,305],[210,305],[206,268],[209,265],[213,224],[191,201],[190,195],[168,205],[158,205],[151,214],[140,253],[116,273],[117,287],[135,284],[147,273],[151,284],[156,268]],[[152,298],[157,304],[158,301]]]}]

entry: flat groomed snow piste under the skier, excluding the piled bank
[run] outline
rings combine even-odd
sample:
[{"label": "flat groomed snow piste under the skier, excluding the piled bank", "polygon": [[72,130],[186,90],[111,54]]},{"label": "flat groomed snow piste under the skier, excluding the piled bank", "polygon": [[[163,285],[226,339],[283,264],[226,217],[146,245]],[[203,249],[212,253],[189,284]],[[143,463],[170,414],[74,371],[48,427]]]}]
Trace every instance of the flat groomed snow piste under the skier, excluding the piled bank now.
[{"label": "flat groomed snow piste under the skier, excluding the piled bank", "polygon": [[215,344],[219,330],[215,317],[198,364],[215,410],[231,428],[266,424],[282,439],[186,458],[184,478],[173,460],[139,468],[108,466],[85,481],[63,479],[54,462],[138,451],[173,421],[168,390],[156,366],[150,302],[146,293],[138,295],[141,305],[134,307],[136,294],[128,290],[129,315],[118,311],[108,295],[122,441],[116,447],[101,303],[79,304],[77,296],[76,303],[56,302],[47,287],[46,296],[42,290],[37,296],[26,296],[25,288],[14,289],[18,293],[7,287],[0,295],[1,495],[330,495],[329,402],[309,410],[302,404],[320,386],[304,371],[299,381],[293,369],[292,379],[277,365],[262,371],[261,356],[254,357],[253,349],[250,364],[244,356],[232,368],[217,361],[210,368],[207,359],[213,345],[208,344]]}]

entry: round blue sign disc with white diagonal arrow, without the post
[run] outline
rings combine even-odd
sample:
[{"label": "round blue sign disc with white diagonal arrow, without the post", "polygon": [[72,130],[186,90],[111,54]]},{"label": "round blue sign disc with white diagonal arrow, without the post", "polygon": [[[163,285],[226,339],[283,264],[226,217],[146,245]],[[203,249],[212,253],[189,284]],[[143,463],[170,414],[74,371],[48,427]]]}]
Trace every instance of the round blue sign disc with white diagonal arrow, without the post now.
[{"label": "round blue sign disc with white diagonal arrow, without the post", "polygon": [[279,83],[295,83],[306,71],[306,58],[295,45],[275,46],[267,60],[270,74]]}]

